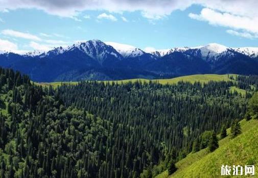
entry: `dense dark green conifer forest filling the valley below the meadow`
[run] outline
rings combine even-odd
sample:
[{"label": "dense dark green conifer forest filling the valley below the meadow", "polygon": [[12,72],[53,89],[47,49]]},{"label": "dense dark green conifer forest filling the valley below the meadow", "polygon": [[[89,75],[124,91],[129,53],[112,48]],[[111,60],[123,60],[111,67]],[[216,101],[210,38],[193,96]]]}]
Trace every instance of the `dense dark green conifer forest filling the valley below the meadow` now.
[{"label": "dense dark green conifer forest filling the valley below the meadow", "polygon": [[231,93],[234,85],[80,82],[42,88],[27,75],[0,69],[0,177],[174,171],[176,161],[212,147],[210,138],[223,125],[245,115],[247,98]]}]

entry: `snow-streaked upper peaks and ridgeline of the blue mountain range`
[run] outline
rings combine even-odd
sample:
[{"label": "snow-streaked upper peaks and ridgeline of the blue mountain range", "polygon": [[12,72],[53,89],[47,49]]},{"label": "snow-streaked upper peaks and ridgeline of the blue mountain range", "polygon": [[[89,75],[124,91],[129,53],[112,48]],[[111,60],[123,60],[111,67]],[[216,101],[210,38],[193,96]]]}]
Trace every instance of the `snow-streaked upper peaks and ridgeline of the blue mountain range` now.
[{"label": "snow-streaked upper peaks and ridgeline of the blue mountain range", "polygon": [[258,47],[238,47],[232,48],[227,47],[217,43],[209,43],[203,46],[197,47],[174,47],[170,49],[154,49],[151,47],[147,47],[144,50],[137,48],[132,45],[121,44],[116,42],[102,42],[100,40],[89,40],[89,41],[78,41],[70,46],[60,46],[55,47],[48,52],[42,52],[34,50],[32,52],[28,51],[13,51],[7,52],[5,50],[1,50],[0,54],[8,54],[14,53],[26,57],[51,57],[61,55],[65,52],[79,50],[85,55],[96,59],[98,61],[103,61],[107,58],[136,58],[140,57],[144,54],[150,54],[153,58],[161,58],[166,55],[170,55],[175,52],[192,54],[198,57],[203,58],[204,60],[218,60],[221,56],[225,56],[228,54],[234,55],[236,53],[241,53],[243,55],[249,56],[250,58],[258,57]]}]

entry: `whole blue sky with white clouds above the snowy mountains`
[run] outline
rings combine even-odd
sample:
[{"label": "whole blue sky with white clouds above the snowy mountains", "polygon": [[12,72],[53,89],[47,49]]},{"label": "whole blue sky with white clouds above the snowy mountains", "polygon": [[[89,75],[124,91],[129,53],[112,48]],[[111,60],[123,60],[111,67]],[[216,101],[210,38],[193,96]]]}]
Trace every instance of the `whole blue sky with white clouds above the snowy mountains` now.
[{"label": "whole blue sky with white clouds above the snowy mountains", "polygon": [[258,47],[256,0],[0,0],[0,50],[99,39],[142,49]]}]

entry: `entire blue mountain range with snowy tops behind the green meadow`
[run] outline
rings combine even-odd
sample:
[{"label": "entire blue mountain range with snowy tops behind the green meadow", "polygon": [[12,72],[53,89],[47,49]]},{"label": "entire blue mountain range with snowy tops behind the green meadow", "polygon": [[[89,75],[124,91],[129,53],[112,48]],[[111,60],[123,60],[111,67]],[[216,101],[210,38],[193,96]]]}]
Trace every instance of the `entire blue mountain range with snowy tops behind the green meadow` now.
[{"label": "entire blue mountain range with snowy tops behind the green meadow", "polygon": [[29,74],[36,82],[172,78],[203,73],[258,74],[258,47],[198,47],[142,50],[89,40],[48,52],[0,53],[0,66]]}]

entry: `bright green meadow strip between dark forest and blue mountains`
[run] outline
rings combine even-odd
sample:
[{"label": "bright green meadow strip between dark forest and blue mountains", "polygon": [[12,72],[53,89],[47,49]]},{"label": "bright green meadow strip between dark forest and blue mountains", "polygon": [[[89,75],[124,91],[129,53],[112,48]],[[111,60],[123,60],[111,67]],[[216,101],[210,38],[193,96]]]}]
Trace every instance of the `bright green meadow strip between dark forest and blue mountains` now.
[{"label": "bright green meadow strip between dark forest and blue mountains", "polygon": [[[236,78],[236,74],[197,74],[197,75],[187,75],[183,77],[177,77],[173,79],[158,79],[158,80],[147,80],[147,79],[128,79],[128,80],[121,80],[121,81],[105,81],[105,82],[115,82],[115,83],[127,83],[127,82],[136,82],[136,81],[142,81],[142,82],[149,82],[149,81],[157,81],[160,84],[175,84],[178,83],[179,81],[184,81],[184,82],[201,82],[201,83],[207,83],[209,81],[230,81],[228,77],[233,77]],[[78,82],[52,82],[52,83],[37,83],[42,86],[48,86],[52,85],[53,87],[60,86],[62,83],[69,83],[69,84],[77,84]]]}]

